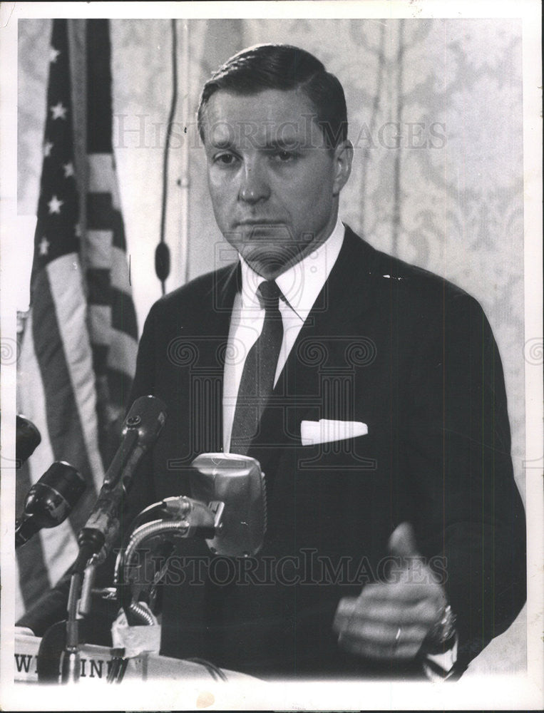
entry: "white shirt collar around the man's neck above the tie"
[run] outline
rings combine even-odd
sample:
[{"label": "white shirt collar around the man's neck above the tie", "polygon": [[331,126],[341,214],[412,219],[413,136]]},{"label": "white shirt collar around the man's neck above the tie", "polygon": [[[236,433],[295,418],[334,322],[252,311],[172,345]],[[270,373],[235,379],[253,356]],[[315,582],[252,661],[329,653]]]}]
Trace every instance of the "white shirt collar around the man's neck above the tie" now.
[{"label": "white shirt collar around the man's neck above the tie", "polygon": [[[317,295],[327,282],[327,277],[337,261],[344,241],[344,232],[344,225],[337,218],[336,225],[325,242],[322,242],[314,251],[276,277],[277,286],[281,289],[285,302],[302,322],[312,310]],[[257,297],[257,287],[261,282],[265,282],[265,278],[252,270],[242,256],[240,256],[240,263],[242,265],[242,309],[261,309]]]}]

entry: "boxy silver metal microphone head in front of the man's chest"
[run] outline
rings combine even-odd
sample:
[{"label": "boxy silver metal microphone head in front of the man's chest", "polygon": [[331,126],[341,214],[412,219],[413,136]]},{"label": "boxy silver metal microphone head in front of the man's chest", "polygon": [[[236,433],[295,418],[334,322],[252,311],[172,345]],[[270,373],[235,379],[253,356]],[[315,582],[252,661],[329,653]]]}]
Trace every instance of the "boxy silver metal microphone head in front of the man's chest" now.
[{"label": "boxy silver metal microphone head in front of the man's chest", "polygon": [[210,550],[227,557],[256,555],[267,528],[265,474],[259,461],[236,453],[202,453],[191,466],[191,496],[206,505],[225,503],[221,527],[207,540]]}]

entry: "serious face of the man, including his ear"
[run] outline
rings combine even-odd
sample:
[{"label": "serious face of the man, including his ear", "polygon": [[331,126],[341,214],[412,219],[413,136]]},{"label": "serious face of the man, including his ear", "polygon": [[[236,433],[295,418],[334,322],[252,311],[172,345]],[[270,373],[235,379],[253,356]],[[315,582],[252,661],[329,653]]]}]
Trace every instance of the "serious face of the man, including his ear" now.
[{"label": "serious face of the man, including his ear", "polygon": [[351,145],[324,144],[304,93],[219,90],[205,108],[207,178],[226,240],[273,279],[332,232]]}]

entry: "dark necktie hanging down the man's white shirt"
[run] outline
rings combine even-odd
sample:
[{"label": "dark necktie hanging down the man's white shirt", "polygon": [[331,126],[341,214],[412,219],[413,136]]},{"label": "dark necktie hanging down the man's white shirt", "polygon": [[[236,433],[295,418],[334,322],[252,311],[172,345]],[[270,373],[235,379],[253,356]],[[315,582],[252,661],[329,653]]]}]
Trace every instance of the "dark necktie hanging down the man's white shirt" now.
[{"label": "dark necktie hanging down the man's white shirt", "polygon": [[247,354],[236,399],[230,452],[245,456],[259,431],[262,412],[274,389],[279,349],[282,346],[283,324],[279,312],[279,287],[270,280],[261,282],[257,296],[265,307],[265,322],[257,342]]}]

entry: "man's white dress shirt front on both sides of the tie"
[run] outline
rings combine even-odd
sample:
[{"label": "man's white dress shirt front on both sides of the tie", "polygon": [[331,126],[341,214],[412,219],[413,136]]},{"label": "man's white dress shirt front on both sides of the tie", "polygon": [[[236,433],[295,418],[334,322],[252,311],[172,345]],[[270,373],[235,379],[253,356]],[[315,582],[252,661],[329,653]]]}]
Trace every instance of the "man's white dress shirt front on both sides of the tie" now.
[{"label": "man's white dress shirt front on both sides of the tie", "polygon": [[[276,277],[276,284],[282,291],[279,312],[282,314],[283,341],[279,350],[274,385],[282,373],[289,352],[311,312],[314,302],[321,292],[327,277],[344,242],[344,225],[337,219],[331,235],[313,252],[296,265]],[[223,372],[223,451],[230,451],[230,435],[234,421],[236,399],[245,359],[262,331],[265,322],[265,308],[257,297],[257,287],[265,282],[265,277],[240,257],[242,265],[242,291],[238,292],[232,307],[230,331]]]}]

